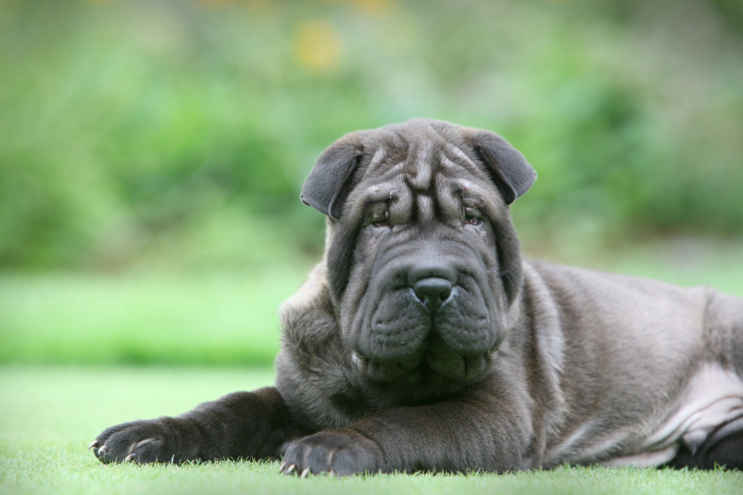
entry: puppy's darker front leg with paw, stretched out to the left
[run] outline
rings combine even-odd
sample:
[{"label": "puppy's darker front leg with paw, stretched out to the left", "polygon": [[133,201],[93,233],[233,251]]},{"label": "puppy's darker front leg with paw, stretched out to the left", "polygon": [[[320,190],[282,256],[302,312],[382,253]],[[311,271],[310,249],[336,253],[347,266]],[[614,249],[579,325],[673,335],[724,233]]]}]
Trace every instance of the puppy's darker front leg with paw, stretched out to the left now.
[{"label": "puppy's darker front leg with paw, stretched out to the left", "polygon": [[278,457],[299,428],[273,387],[230,393],[181,416],[117,424],[91,444],[102,462]]}]

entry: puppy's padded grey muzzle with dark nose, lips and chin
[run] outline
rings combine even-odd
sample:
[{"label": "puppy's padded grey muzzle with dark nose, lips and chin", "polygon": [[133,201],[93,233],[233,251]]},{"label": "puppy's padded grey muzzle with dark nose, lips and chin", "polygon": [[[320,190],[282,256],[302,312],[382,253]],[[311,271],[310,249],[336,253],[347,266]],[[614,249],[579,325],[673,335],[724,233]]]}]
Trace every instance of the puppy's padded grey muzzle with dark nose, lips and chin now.
[{"label": "puppy's padded grey muzzle with dark nose, lips and chin", "polygon": [[361,332],[354,361],[374,381],[410,373],[470,381],[490,367],[497,335],[476,281],[423,274],[384,292]]}]

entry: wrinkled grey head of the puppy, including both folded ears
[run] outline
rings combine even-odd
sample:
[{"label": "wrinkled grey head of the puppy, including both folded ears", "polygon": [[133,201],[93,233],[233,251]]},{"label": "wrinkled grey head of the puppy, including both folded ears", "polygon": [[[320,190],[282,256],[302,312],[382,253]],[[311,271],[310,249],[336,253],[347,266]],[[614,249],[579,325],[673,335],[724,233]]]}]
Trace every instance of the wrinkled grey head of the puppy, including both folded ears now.
[{"label": "wrinkled grey head of the puppy, including both folded ears", "polygon": [[423,393],[487,372],[521,283],[508,205],[534,180],[497,134],[427,119],[322,153],[302,201],[328,215],[328,286],[360,376]]}]

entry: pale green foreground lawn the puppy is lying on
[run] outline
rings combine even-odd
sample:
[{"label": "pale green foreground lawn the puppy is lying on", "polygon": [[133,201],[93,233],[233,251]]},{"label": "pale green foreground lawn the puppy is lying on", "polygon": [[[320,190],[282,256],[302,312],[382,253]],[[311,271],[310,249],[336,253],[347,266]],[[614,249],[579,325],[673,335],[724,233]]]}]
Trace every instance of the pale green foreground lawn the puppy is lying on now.
[{"label": "pale green foreground lawn the puppy is lying on", "polygon": [[740,494],[739,471],[559,468],[505,476],[286,478],[278,462],[102,465],[87,446],[117,422],[177,414],[273,380],[268,368],[2,367],[1,494]]}]

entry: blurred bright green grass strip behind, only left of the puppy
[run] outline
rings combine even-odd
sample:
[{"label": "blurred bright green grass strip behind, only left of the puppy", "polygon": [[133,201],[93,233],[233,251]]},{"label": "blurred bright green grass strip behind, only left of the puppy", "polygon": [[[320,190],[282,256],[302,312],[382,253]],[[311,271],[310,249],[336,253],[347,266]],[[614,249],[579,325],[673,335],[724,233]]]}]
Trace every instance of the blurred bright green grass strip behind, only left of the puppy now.
[{"label": "blurred bright green grass strip behind, only left of the puppy", "polygon": [[201,275],[0,278],[0,362],[271,364],[307,266]]}]

